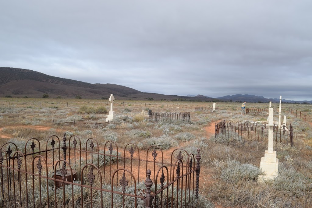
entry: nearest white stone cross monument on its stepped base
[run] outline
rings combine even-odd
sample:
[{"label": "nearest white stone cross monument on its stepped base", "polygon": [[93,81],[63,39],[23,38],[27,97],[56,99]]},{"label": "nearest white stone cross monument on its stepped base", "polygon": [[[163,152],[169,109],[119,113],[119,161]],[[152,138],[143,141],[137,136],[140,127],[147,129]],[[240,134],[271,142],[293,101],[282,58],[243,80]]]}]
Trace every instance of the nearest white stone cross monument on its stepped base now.
[{"label": "nearest white stone cross monument on its stepped base", "polygon": [[276,151],[273,151],[273,108],[269,108],[269,148],[264,152],[264,157],[261,157],[260,168],[264,175],[258,176],[258,182],[262,183],[266,180],[274,180],[278,174],[278,159],[276,158]]}]

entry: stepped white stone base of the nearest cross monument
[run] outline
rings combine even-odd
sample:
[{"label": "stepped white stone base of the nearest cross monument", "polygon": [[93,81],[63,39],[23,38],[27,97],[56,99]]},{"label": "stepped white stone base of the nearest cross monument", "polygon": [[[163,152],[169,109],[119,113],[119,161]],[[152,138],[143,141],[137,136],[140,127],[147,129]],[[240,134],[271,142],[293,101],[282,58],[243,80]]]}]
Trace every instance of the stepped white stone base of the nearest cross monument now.
[{"label": "stepped white stone base of the nearest cross monument", "polygon": [[278,159],[275,151],[273,153],[268,153],[267,150],[264,152],[264,157],[261,157],[260,168],[264,175],[258,176],[259,183],[274,180],[274,177],[278,174]]}]

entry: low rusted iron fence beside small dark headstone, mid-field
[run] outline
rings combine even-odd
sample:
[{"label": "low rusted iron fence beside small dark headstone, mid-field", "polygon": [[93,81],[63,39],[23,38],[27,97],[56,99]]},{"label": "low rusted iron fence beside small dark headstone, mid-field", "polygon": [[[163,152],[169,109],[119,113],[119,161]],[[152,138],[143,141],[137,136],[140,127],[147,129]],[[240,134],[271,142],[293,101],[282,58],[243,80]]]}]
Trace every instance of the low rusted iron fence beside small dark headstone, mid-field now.
[{"label": "low rusted iron fence beside small dark headstone, mid-field", "polygon": [[149,122],[158,122],[161,120],[177,120],[177,121],[190,121],[190,113],[158,113],[152,112],[149,114]]}]

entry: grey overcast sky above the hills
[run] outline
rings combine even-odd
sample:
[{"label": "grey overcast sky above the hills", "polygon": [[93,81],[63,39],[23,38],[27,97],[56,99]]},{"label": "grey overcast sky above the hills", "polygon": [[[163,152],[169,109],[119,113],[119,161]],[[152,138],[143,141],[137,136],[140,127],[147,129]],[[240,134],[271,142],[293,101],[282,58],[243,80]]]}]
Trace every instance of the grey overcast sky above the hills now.
[{"label": "grey overcast sky above the hills", "polygon": [[312,100],[311,0],[0,2],[0,66],[142,92]]}]

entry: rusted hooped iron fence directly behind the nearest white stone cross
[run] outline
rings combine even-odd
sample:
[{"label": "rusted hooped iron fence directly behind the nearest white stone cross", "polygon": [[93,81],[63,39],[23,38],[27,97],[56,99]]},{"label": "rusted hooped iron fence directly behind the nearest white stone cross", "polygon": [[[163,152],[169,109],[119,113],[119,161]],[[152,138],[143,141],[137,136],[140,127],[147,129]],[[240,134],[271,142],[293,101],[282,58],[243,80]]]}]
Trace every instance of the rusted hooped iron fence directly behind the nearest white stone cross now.
[{"label": "rusted hooped iron fence directly behind the nearest white stone cross", "polygon": [[[240,140],[242,142],[267,142],[268,141],[268,123],[251,123],[246,122],[233,122],[225,120],[215,124],[215,138],[229,138],[231,140]],[[277,123],[273,123],[273,141],[291,144],[293,146],[293,127],[289,127],[282,123],[278,127]]]}]

